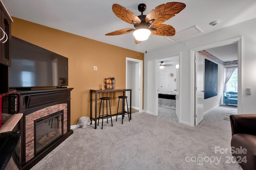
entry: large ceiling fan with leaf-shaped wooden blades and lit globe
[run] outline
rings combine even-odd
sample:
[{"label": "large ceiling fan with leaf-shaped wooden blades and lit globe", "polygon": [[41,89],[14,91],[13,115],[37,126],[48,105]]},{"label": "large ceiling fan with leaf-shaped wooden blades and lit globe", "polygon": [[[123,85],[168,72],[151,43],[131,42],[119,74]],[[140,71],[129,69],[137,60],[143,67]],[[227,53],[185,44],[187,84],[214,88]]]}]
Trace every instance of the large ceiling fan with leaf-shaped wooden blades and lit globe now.
[{"label": "large ceiling fan with leaf-shaped wooden blades and lit globe", "polygon": [[[135,29],[125,28],[105,35],[122,35],[133,32],[135,37],[134,42],[136,44],[148,39],[150,34],[173,36],[175,35],[174,27],[162,23],[175,16],[175,14],[178,14],[185,7],[186,5],[180,2],[168,2],[157,6],[154,10],[150,11],[148,15],[143,15],[143,12],[146,10],[146,4],[139,4],[138,10],[141,12],[141,15],[136,16],[130,12],[130,10],[126,10],[126,8],[118,4],[113,4],[112,10],[114,14],[121,20],[133,24]],[[145,36],[142,36],[144,33]]]}]

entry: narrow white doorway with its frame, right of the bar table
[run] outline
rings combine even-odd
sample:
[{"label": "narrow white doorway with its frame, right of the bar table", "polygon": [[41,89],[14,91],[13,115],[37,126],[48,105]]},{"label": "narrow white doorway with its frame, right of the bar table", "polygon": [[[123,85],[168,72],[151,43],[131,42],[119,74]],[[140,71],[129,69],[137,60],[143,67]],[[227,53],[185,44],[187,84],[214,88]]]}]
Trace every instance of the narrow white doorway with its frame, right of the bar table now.
[{"label": "narrow white doorway with its frame, right of the bar table", "polygon": [[[132,89],[132,109],[142,112],[143,61],[126,57],[126,89]],[[130,96],[130,94],[127,94]],[[130,106],[130,100],[128,101]]]}]

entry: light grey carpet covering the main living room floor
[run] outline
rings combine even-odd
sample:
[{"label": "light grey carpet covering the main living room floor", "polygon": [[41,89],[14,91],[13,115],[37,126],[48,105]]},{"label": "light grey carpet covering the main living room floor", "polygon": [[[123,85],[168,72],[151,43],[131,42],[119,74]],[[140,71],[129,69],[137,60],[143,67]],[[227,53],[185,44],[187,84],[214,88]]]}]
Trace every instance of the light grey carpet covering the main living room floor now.
[{"label": "light grey carpet covering the main living room floor", "polygon": [[215,108],[195,127],[137,112],[113,127],[77,128],[32,170],[242,170],[228,162],[230,151],[215,153],[215,147],[230,148],[228,109]]}]

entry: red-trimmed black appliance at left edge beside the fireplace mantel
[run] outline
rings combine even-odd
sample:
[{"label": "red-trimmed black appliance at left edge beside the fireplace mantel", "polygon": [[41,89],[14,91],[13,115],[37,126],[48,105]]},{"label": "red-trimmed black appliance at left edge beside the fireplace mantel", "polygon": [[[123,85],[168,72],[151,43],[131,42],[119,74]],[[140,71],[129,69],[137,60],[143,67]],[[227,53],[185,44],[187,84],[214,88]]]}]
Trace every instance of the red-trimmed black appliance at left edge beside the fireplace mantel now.
[{"label": "red-trimmed black appliance at left edge beside the fireplace mantel", "polygon": [[15,114],[20,112],[20,94],[17,91],[11,91],[0,94],[0,128],[2,127],[2,97],[8,98],[8,113]]}]

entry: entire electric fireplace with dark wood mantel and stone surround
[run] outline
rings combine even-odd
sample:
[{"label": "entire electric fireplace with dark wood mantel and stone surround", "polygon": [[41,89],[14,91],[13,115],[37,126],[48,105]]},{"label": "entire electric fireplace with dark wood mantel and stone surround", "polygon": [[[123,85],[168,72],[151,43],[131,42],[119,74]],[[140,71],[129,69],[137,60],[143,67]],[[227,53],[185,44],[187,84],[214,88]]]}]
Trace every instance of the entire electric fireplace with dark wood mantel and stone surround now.
[{"label": "entire electric fireplace with dark wood mantel and stone surround", "polygon": [[21,130],[20,165],[31,169],[72,135],[70,91],[73,88],[19,90]]}]

